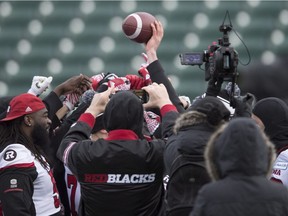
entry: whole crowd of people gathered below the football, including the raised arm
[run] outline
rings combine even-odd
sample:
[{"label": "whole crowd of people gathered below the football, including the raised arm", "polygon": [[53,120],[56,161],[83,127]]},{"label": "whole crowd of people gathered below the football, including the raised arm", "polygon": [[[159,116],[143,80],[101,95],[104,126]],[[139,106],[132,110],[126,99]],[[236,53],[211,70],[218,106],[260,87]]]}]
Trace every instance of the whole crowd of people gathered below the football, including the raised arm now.
[{"label": "whole crowd of people gathered below the football, including the raised arm", "polygon": [[288,105],[235,88],[231,107],[214,80],[179,96],[151,27],[138,74],[72,76],[44,98],[53,78],[35,76],[1,98],[0,215],[288,215]]}]

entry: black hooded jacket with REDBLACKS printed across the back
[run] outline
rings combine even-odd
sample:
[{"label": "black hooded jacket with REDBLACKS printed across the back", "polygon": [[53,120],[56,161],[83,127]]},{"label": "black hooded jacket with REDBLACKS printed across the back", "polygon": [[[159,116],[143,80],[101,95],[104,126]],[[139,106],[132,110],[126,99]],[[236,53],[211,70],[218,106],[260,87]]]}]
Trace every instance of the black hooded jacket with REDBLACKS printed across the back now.
[{"label": "black hooded jacket with REDBLACKS printed across the back", "polygon": [[[173,105],[166,105],[165,110],[167,114],[177,112]],[[165,122],[166,114],[162,114]],[[103,119],[109,132],[107,139],[88,140],[95,118],[84,113],[58,150],[59,159],[81,184],[84,214],[158,215],[162,207],[165,142],[139,138],[143,108],[129,91],[111,97]]]}]

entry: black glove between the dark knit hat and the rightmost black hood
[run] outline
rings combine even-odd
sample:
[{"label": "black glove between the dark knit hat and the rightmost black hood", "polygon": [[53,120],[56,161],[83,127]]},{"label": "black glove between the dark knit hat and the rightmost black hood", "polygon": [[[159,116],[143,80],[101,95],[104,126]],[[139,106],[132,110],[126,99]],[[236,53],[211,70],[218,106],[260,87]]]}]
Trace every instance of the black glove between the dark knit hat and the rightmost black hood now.
[{"label": "black glove between the dark knit hat and the rightmost black hood", "polygon": [[234,117],[250,118],[255,100],[255,96],[251,93],[247,93],[242,98],[233,97],[230,101],[230,105],[235,109]]}]

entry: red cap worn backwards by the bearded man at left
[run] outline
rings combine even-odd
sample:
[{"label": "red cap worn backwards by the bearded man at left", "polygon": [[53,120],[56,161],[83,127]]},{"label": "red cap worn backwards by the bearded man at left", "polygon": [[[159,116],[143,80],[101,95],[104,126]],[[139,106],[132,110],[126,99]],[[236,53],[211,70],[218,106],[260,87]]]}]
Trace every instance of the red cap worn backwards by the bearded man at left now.
[{"label": "red cap worn backwards by the bearded man at left", "polygon": [[35,95],[29,93],[20,94],[10,101],[6,118],[0,121],[10,121],[44,108],[46,108],[45,104]]}]

